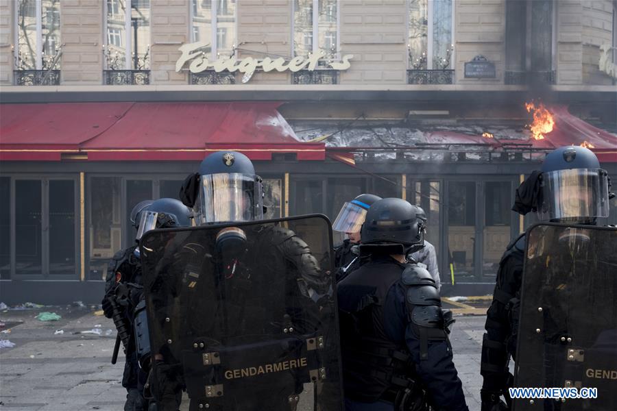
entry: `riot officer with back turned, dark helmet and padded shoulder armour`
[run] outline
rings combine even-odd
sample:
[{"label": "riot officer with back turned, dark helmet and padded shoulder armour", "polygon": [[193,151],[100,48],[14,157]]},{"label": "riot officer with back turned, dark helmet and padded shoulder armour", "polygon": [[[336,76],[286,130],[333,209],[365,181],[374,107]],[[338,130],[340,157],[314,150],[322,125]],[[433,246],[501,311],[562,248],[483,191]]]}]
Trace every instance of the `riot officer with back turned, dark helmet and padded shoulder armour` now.
[{"label": "riot officer with back turned, dark helmet and padded shoulder armour", "polygon": [[382,199],[361,229],[359,269],[338,285],[346,410],[468,410],[452,362],[450,312],[431,275],[405,256],[422,247],[421,211]]}]

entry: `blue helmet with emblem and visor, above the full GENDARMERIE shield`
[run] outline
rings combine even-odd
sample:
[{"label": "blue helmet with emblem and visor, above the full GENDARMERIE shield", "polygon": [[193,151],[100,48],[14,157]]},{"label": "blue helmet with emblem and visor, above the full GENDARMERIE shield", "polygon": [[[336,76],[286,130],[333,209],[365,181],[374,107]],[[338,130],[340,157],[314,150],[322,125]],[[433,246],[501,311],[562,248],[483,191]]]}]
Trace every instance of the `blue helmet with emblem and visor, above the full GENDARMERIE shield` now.
[{"label": "blue helmet with emblem and visor, above the full GENDARMERIE shield", "polygon": [[237,151],[217,151],[199,165],[197,224],[263,219],[263,184],[253,163]]}]

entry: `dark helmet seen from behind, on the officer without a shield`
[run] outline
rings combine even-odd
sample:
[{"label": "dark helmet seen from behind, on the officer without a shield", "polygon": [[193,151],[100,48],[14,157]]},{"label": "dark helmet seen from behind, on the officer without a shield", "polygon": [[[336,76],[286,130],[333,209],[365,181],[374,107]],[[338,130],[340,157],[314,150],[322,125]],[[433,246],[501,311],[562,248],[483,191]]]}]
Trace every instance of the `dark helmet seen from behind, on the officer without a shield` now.
[{"label": "dark helmet seen from behind, on the officer without a shield", "polygon": [[402,253],[420,249],[424,246],[423,217],[424,210],[403,199],[375,201],[362,225],[362,244],[398,244],[403,246]]}]

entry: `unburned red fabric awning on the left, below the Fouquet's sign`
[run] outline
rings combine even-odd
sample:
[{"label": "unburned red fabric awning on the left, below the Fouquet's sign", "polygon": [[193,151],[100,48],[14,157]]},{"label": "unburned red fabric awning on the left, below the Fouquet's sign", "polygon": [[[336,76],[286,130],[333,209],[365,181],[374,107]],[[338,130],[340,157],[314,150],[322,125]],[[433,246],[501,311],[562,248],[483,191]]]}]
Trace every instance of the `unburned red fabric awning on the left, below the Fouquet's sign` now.
[{"label": "unburned red fabric awning on the left, below the Fouquet's sign", "polygon": [[50,103],[0,106],[0,160],[202,160],[235,150],[252,160],[295,153],[324,160],[323,143],[300,142],[280,103]]}]

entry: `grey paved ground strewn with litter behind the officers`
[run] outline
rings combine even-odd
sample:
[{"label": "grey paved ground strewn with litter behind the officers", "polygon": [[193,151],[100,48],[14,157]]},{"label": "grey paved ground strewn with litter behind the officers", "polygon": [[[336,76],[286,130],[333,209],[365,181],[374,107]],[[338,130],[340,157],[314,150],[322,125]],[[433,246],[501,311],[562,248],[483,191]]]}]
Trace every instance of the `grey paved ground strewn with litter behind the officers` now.
[{"label": "grey paved ground strewn with litter behind the officers", "polygon": [[[486,307],[447,299],[444,306],[452,308],[457,319],[450,340],[465,398],[471,411],[479,411]],[[0,340],[15,345],[0,348],[0,409],[123,409],[123,358],[110,363],[116,333],[112,321],[97,315],[101,313],[97,310],[99,306],[0,310],[0,323],[4,323]],[[62,318],[39,321],[35,318],[39,312],[56,312]]]}]

